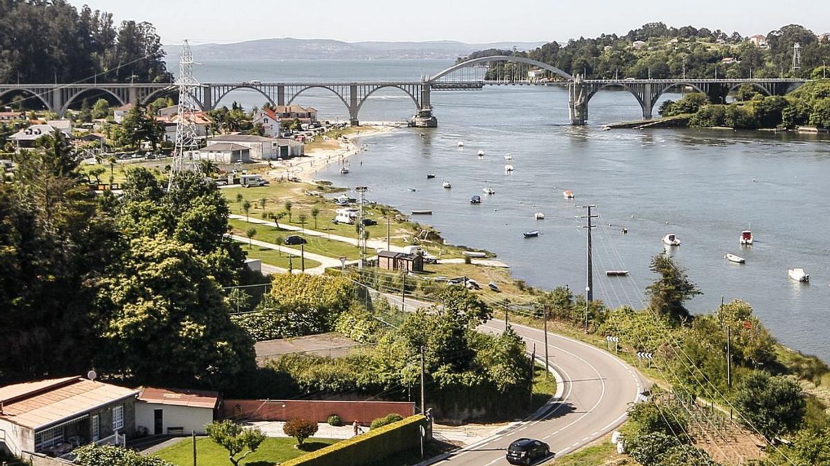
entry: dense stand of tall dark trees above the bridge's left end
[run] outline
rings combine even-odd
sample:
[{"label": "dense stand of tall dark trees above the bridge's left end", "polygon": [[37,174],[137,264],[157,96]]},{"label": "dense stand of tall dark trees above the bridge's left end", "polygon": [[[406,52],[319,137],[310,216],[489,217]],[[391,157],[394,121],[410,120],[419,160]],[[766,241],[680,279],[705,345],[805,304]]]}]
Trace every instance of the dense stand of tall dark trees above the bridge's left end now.
[{"label": "dense stand of tall dark trees above the bridge's left end", "polygon": [[164,49],[149,22],[79,12],[64,0],[0,0],[0,82],[169,81]]}]

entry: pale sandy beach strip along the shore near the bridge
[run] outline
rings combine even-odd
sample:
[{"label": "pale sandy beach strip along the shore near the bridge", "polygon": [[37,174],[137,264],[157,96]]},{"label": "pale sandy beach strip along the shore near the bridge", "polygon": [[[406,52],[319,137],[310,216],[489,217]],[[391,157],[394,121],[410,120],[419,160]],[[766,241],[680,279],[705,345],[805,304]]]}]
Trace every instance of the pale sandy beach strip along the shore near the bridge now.
[{"label": "pale sandy beach strip along the shore near the bridge", "polygon": [[348,163],[349,157],[363,152],[364,146],[360,143],[361,139],[391,133],[402,126],[403,124],[398,122],[378,122],[361,126],[348,136],[338,138],[336,141],[332,140],[331,145],[336,144],[335,147],[314,148],[306,152],[305,157],[271,163],[272,169],[268,172],[268,177],[273,179],[296,177],[301,181],[310,182],[319,170],[331,163]]}]

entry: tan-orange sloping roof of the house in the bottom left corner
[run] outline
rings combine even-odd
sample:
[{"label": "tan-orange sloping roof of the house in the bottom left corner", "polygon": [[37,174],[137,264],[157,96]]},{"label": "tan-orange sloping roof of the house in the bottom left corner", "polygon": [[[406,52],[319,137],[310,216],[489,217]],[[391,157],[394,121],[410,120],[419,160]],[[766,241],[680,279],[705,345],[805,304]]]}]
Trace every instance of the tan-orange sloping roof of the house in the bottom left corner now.
[{"label": "tan-orange sloping roof of the house in the bottom left corner", "polygon": [[3,401],[0,419],[39,429],[137,393],[134,389],[90,381],[81,376],[4,386],[0,387],[0,400]]}]

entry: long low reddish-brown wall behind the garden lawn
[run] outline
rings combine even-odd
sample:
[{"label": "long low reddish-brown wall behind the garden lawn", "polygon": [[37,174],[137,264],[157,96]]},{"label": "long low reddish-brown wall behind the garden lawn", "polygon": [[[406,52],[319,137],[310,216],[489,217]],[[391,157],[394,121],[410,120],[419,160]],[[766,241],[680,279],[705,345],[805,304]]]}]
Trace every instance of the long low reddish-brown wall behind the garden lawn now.
[{"label": "long low reddish-brown wall behind the garden lawn", "polygon": [[415,403],[407,401],[324,401],[324,400],[223,400],[222,419],[289,420],[302,418],[325,422],[339,415],[345,424],[357,420],[369,425],[378,417],[398,413],[415,414]]}]

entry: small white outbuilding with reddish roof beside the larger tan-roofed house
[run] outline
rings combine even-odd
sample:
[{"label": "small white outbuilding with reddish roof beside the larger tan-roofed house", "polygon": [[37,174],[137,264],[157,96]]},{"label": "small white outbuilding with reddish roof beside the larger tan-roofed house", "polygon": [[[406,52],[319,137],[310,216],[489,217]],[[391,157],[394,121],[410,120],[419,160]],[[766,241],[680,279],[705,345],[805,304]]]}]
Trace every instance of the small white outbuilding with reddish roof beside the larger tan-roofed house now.
[{"label": "small white outbuilding with reddish roof beside the larger tan-roofed house", "polygon": [[216,391],[143,387],[135,401],[135,425],[150,435],[205,434],[217,419]]}]

